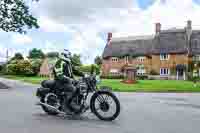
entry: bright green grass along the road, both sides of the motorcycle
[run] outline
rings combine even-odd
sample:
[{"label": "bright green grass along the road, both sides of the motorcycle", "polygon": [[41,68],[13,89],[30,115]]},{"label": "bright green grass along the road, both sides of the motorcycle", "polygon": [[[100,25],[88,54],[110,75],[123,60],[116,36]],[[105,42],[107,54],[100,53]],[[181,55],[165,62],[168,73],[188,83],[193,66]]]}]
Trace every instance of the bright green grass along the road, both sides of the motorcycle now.
[{"label": "bright green grass along the road, both sides of the motorcycle", "polygon": [[[40,84],[44,77],[3,76],[33,84]],[[136,84],[124,84],[120,80],[103,79],[100,86],[109,86],[121,92],[200,92],[200,84],[194,87],[191,81],[181,80],[139,80]]]}]

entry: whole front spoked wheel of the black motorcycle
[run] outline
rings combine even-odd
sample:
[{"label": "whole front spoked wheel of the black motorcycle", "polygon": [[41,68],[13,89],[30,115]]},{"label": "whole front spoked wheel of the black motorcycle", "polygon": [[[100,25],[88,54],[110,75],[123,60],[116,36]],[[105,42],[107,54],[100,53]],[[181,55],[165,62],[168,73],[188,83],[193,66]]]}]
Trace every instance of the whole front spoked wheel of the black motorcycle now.
[{"label": "whole front spoked wheel of the black motorcycle", "polygon": [[91,110],[100,119],[115,120],[120,113],[120,103],[117,97],[107,91],[95,93],[91,99]]}]

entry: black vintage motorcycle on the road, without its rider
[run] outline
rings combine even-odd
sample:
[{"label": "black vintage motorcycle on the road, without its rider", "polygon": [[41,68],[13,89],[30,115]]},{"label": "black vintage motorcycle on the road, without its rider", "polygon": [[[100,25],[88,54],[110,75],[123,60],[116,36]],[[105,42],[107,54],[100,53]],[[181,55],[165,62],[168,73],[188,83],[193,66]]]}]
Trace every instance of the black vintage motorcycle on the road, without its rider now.
[{"label": "black vintage motorcycle on the road, without its rider", "polygon": [[[115,120],[120,114],[120,102],[109,87],[98,87],[99,82],[100,79],[95,75],[85,75],[74,80],[76,95],[68,101],[68,92],[54,88],[56,81],[45,80],[36,92],[36,96],[40,98],[37,105],[49,115],[80,115],[90,109],[100,120]],[[90,104],[85,106],[89,97]]]}]

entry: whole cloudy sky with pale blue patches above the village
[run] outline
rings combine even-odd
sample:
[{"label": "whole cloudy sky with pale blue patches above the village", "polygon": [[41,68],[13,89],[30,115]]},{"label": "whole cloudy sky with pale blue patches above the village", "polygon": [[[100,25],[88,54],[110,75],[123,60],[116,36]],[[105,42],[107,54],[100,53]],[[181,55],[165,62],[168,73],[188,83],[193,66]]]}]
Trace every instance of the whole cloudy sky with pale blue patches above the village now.
[{"label": "whole cloudy sky with pale blue patches above the village", "polygon": [[0,31],[0,61],[32,48],[45,53],[69,49],[91,64],[102,55],[108,32],[113,37],[152,35],[155,23],[162,29],[183,28],[192,20],[200,29],[200,0],[26,0],[38,18],[39,29],[26,35]]}]

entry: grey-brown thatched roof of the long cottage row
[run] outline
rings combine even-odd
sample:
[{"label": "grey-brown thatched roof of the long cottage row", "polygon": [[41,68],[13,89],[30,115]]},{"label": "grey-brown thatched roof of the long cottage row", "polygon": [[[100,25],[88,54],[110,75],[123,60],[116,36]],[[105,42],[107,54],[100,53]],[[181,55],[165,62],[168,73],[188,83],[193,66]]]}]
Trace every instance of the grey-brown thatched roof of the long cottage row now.
[{"label": "grey-brown thatched roof of the long cottage row", "polygon": [[[196,43],[194,40],[198,40]],[[106,45],[103,58],[160,54],[160,53],[188,53],[200,54],[200,31],[193,30],[188,44],[185,29],[163,30],[157,36],[136,36],[113,38]]]}]

